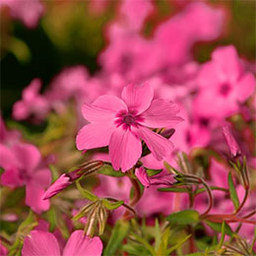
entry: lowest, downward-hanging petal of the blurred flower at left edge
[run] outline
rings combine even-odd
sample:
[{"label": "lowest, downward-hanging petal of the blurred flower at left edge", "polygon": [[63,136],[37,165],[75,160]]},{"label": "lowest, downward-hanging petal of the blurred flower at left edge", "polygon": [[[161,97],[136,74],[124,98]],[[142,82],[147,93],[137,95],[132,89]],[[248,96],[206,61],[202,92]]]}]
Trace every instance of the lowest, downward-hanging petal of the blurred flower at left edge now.
[{"label": "lowest, downward-hanging petal of the blurred flower at left edge", "polygon": [[30,206],[36,214],[41,214],[49,209],[48,200],[43,200],[44,189],[34,186],[31,183],[26,186],[26,205]]}]

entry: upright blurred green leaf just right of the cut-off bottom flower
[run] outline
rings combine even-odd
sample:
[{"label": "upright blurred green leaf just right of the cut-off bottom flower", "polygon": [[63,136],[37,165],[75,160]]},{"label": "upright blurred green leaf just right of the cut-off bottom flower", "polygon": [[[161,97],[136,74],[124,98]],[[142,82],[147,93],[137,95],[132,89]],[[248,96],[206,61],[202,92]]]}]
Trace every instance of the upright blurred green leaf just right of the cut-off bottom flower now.
[{"label": "upright blurred green leaf just right of the cut-off bottom flower", "polygon": [[122,240],[126,237],[128,230],[128,222],[118,221],[115,224],[108,243],[103,251],[103,256],[115,255],[115,252],[120,247]]}]

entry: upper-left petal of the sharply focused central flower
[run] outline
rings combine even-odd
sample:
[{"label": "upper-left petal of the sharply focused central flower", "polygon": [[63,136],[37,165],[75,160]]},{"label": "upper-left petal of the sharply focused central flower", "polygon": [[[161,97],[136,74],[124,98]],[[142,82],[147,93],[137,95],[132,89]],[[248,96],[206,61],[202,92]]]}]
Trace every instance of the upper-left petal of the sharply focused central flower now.
[{"label": "upper-left petal of the sharply focused central flower", "polygon": [[109,122],[119,110],[127,110],[127,106],[117,96],[98,96],[92,104],[85,103],[82,107],[83,116],[93,123]]}]

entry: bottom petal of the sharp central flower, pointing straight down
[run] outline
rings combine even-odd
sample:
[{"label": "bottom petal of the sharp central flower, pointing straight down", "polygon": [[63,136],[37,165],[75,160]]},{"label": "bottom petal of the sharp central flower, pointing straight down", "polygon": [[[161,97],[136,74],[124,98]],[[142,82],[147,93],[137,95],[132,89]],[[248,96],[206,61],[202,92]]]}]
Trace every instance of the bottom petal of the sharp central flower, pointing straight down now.
[{"label": "bottom petal of the sharp central flower, pointing straight down", "polygon": [[109,155],[113,168],[121,168],[124,172],[133,167],[141,157],[141,142],[129,129],[119,127],[110,138]]}]

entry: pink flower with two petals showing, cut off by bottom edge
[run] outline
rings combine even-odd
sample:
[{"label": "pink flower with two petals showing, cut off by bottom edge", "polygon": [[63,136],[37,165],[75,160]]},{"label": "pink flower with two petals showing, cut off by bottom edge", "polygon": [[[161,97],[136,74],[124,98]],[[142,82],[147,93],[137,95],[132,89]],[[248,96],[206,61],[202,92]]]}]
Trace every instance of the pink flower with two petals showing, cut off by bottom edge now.
[{"label": "pink flower with two petals showing, cut off by bottom edge", "polygon": [[84,235],[83,230],[71,234],[63,252],[52,233],[33,230],[25,237],[22,250],[23,256],[99,256],[101,252],[102,242],[99,237],[90,238]]}]

